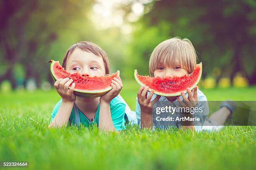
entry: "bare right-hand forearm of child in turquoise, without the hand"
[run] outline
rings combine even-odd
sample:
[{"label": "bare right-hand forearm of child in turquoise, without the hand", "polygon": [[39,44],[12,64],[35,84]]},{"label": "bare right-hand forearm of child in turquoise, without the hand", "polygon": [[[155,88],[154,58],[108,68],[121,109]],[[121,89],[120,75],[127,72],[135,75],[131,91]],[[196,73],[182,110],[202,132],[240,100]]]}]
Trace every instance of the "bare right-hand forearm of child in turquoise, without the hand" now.
[{"label": "bare right-hand forearm of child in turquoise, without the hand", "polygon": [[108,102],[100,102],[99,129],[104,131],[115,131]]}]

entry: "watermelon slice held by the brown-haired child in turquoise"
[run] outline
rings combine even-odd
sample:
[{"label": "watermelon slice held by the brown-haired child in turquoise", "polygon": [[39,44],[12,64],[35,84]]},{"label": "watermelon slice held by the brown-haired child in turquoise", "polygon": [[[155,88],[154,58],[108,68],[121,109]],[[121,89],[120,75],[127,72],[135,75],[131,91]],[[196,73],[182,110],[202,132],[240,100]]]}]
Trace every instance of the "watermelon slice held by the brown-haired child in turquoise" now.
[{"label": "watermelon slice held by the brown-haired child in turquoise", "polygon": [[108,76],[84,77],[79,72],[73,74],[67,72],[59,64],[59,61],[49,60],[48,62],[51,62],[51,76],[54,81],[66,77],[73,79],[75,83],[74,94],[79,97],[100,97],[105,95],[112,89],[110,84],[113,78],[119,76],[119,71],[117,71],[115,74]]}]

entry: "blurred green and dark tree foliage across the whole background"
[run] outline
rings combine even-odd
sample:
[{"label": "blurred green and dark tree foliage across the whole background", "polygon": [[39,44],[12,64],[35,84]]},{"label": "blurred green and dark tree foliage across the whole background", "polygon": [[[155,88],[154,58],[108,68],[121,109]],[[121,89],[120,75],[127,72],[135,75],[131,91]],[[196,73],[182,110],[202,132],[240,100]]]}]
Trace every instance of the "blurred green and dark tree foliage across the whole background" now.
[{"label": "blurred green and dark tree foliage across the whole background", "polygon": [[[67,48],[82,40],[102,47],[110,58],[111,72],[120,70],[122,78],[133,78],[134,69],[148,75],[154,47],[178,36],[192,41],[204,64],[203,77],[215,76],[217,82],[230,77],[233,82],[240,73],[250,85],[256,83],[255,1],[119,2],[115,6],[122,11],[124,24],[132,25],[128,34],[122,33],[123,25],[102,29],[95,24],[101,23],[92,18],[99,2],[0,0],[0,82],[9,80],[13,88],[29,78],[35,78],[38,87],[43,81],[51,82],[47,60],[61,61]],[[143,4],[144,13],[131,21],[134,3]]]}]

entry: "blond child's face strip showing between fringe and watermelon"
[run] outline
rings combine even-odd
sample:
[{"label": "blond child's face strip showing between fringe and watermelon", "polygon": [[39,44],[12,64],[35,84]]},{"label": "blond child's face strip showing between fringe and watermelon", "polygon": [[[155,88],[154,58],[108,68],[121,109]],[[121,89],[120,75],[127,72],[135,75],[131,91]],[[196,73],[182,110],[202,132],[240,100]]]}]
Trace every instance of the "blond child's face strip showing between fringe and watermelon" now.
[{"label": "blond child's face strip showing between fringe and watermelon", "polygon": [[188,74],[187,69],[182,68],[180,65],[176,65],[173,68],[167,66],[159,66],[154,71],[154,77],[159,76],[161,78],[173,76],[182,77],[185,74]]}]

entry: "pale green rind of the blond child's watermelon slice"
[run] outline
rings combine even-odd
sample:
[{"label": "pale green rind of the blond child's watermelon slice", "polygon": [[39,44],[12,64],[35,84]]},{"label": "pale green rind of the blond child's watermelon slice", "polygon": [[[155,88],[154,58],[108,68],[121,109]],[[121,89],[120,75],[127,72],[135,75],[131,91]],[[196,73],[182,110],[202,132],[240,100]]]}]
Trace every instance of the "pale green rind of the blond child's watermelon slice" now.
[{"label": "pale green rind of the blond child's watermelon slice", "polygon": [[[194,89],[196,87],[196,85],[199,83],[200,79],[201,79],[201,76],[202,76],[202,62],[199,63],[199,67],[200,67],[200,75],[198,76],[197,81],[194,83],[194,85],[192,87],[189,87],[190,90]],[[140,80],[138,80],[137,70],[134,70],[134,77],[135,77],[135,80],[138,82],[138,84],[140,86],[146,86]],[[151,90],[152,90],[151,88],[148,89],[148,91],[150,91],[150,92],[151,92]],[[176,92],[176,93],[162,93],[162,92],[158,92],[158,91],[154,90],[154,94],[160,95],[160,96],[167,96],[167,97],[179,96],[179,95],[181,95],[181,92],[187,93],[187,90]]]}]

